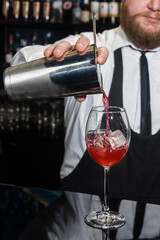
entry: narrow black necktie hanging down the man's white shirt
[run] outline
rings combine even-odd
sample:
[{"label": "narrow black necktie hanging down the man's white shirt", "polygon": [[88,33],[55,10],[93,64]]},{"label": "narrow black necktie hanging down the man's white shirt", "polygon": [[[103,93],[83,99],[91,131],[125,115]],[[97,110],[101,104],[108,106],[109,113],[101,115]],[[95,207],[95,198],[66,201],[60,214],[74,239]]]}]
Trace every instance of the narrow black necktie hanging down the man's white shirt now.
[{"label": "narrow black necktie hanging down the man's white shirt", "polygon": [[150,109],[150,88],[148,62],[145,52],[141,52],[140,73],[141,73],[141,124],[140,133],[142,135],[151,134],[151,109]]}]

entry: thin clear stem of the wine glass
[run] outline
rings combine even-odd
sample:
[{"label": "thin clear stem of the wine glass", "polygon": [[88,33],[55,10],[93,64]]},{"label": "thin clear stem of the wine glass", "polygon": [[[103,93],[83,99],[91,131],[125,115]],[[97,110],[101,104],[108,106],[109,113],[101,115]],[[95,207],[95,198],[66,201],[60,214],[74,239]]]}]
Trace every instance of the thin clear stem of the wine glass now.
[{"label": "thin clear stem of the wine glass", "polygon": [[103,211],[109,211],[109,194],[108,194],[108,173],[109,173],[110,167],[104,167],[104,203],[103,203]]}]

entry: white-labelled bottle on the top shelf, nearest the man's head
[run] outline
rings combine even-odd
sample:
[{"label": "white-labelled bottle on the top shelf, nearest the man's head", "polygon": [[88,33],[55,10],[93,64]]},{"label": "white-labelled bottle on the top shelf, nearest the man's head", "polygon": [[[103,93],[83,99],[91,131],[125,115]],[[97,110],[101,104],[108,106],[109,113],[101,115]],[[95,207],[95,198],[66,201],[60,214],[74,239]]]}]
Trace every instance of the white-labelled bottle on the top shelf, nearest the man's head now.
[{"label": "white-labelled bottle on the top shelf, nearest the man's head", "polygon": [[109,24],[114,26],[118,25],[119,24],[118,0],[109,0],[108,12],[109,12]]}]

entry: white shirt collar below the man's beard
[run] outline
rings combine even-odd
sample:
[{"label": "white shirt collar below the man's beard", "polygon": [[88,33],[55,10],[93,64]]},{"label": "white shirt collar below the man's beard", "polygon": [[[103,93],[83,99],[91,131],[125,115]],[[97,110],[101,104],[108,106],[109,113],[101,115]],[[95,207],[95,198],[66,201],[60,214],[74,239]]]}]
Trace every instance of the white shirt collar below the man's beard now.
[{"label": "white shirt collar below the man's beard", "polygon": [[[112,44],[112,51],[115,51],[119,48],[123,48],[123,47],[127,47],[127,46],[131,46],[133,49],[135,50],[139,50],[141,51],[140,48],[137,48],[126,36],[125,32],[123,31],[123,29],[121,28],[121,26],[119,26],[118,28],[115,29],[115,39],[113,41]],[[151,49],[149,50],[150,52],[157,52],[160,51],[160,47],[157,47],[155,49]]]}]

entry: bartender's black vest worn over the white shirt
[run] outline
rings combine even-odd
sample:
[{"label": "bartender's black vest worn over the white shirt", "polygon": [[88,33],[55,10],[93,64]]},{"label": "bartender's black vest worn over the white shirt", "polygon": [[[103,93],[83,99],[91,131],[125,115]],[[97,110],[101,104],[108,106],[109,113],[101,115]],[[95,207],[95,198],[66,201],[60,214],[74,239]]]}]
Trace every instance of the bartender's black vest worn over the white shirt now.
[{"label": "bartender's black vest worn over the white shirt", "polygon": [[[115,69],[109,93],[110,106],[123,107],[123,63],[121,49],[115,51]],[[88,151],[78,166],[62,179],[62,189],[103,197],[103,167],[92,160]],[[112,198],[160,204],[160,131],[144,136],[131,130],[126,156],[109,172]]]}]

